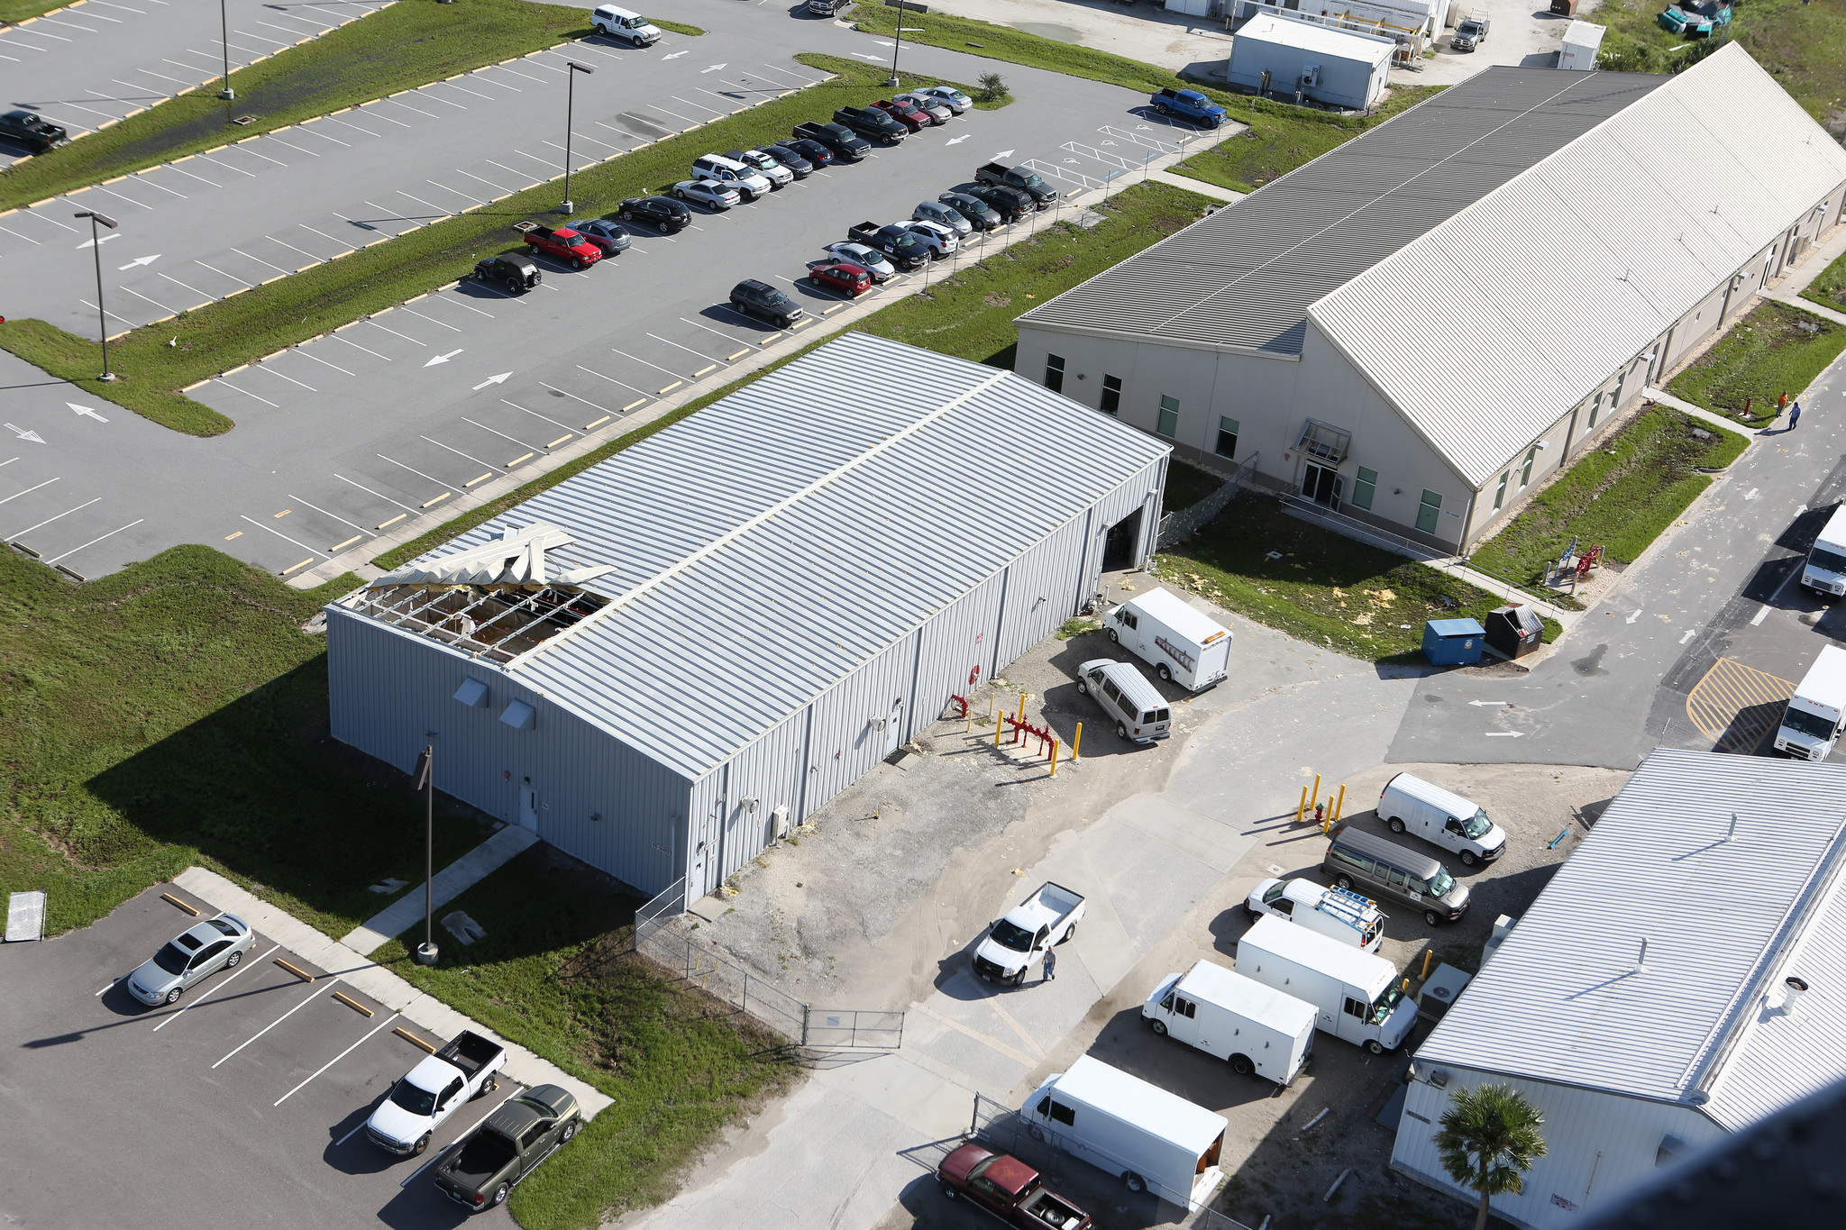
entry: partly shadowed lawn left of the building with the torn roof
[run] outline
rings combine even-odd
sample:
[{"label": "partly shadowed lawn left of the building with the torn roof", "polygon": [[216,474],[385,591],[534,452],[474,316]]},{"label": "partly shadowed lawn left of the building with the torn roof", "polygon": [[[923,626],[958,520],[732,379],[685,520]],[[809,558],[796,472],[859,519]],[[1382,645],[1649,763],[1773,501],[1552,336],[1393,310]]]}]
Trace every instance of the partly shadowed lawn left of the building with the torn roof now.
[{"label": "partly shadowed lawn left of the building with the torn roof", "polygon": [[[343,935],[423,874],[423,806],[329,741],[297,592],[201,546],[70,585],[0,551],[0,891],[85,926],[203,863]],[[441,800],[439,800],[441,802]],[[438,808],[438,863],[482,839]]]}]

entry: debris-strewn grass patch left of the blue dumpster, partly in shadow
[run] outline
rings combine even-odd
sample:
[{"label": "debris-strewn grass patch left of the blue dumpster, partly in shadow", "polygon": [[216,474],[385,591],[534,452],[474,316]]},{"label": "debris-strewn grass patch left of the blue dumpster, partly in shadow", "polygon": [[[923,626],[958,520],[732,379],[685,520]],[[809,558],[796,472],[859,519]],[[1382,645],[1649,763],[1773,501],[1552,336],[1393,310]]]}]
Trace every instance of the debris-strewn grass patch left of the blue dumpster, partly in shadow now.
[{"label": "debris-strewn grass patch left of the blue dumpster, partly in shadow", "polygon": [[[1231,500],[1215,522],[1156,555],[1154,572],[1257,623],[1366,662],[1421,662],[1427,620],[1480,620],[1506,605],[1427,564],[1289,516],[1261,494]],[[1560,631],[1545,621],[1547,642]]]}]

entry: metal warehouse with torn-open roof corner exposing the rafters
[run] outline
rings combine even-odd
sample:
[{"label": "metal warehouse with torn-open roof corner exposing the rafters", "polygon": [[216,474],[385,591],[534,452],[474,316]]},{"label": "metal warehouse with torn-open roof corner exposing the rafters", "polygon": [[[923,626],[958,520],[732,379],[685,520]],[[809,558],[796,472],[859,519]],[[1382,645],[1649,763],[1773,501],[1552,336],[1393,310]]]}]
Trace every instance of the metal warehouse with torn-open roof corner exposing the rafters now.
[{"label": "metal warehouse with torn-open roof corner exposing the rafters", "polygon": [[1169,452],[849,334],[330,603],[334,738],[696,900],[1139,564]]}]

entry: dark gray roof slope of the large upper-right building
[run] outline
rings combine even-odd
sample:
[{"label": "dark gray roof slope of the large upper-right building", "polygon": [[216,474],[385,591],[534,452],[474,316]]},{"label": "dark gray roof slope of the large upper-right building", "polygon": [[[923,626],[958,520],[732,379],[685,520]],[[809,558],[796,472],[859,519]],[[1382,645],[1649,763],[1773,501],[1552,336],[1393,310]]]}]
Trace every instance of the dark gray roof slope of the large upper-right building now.
[{"label": "dark gray roof slope of the large upper-right building", "polygon": [[1488,68],[1019,319],[1300,354],[1311,304],[1665,81]]}]

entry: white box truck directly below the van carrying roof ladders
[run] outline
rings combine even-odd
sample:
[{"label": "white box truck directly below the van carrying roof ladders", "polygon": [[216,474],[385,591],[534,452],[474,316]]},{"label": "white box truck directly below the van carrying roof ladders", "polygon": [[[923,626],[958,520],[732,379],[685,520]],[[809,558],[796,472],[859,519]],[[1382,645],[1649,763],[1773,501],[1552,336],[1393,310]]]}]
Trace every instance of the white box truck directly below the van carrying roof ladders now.
[{"label": "white box truck directly below the van carrying roof ladders", "polygon": [[1416,1003],[1390,961],[1281,918],[1244,931],[1237,972],[1314,1005],[1320,1029],[1373,1055],[1396,1051],[1416,1025]]}]

